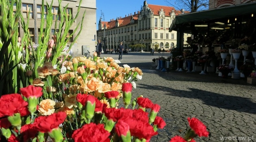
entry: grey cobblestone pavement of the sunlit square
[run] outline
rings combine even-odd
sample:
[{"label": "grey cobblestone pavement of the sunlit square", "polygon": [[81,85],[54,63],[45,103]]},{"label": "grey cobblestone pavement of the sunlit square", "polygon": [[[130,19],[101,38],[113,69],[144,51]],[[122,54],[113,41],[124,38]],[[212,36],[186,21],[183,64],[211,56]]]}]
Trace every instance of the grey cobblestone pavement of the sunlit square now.
[{"label": "grey cobblestone pavement of the sunlit square", "polygon": [[[120,64],[143,71],[142,80],[132,90],[133,96],[143,95],[161,105],[158,116],[167,125],[150,142],[169,142],[176,135],[184,136],[189,129],[188,117],[200,119],[210,132],[208,138],[195,138],[197,142],[256,141],[256,86],[244,79],[223,79],[216,73],[199,75],[152,68],[152,58],[163,55],[169,54],[128,53]],[[102,56],[118,58],[115,54]],[[241,137],[246,140],[239,140]]]}]

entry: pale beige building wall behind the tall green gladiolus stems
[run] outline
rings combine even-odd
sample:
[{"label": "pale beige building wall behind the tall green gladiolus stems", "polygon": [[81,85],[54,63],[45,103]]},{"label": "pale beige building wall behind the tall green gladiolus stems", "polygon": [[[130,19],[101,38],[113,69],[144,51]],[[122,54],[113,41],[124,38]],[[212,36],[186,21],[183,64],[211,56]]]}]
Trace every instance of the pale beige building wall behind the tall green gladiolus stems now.
[{"label": "pale beige building wall behind the tall green gladiolus stems", "polygon": [[[45,0],[45,4],[46,2],[48,4],[51,4],[52,0]],[[62,0],[61,5],[64,7],[68,4],[67,14],[75,16],[78,10],[79,2],[80,0]],[[38,35],[40,33],[41,9],[42,9],[42,3],[39,0],[34,0],[34,1],[22,0],[21,13],[25,21],[29,19],[28,30],[30,33],[31,40],[35,44],[35,46],[37,46],[36,43],[38,43],[37,42]],[[46,9],[46,5],[45,5],[45,9]],[[50,36],[52,36],[55,32],[55,29],[54,29],[55,23],[58,22],[57,24],[59,24],[60,22],[57,16],[58,9],[59,9],[58,0],[53,0],[53,4],[52,4],[53,24],[51,27]],[[80,29],[80,26],[79,26],[78,30],[76,30],[76,33],[74,33],[74,35],[70,38],[70,40],[67,43],[67,44],[70,44],[74,42],[74,38],[78,34],[79,30],[82,30],[80,33],[80,36],[72,46],[72,52],[73,52],[72,56],[82,55],[82,45],[85,45],[86,47],[88,47],[90,51],[94,50],[94,47],[95,47],[94,36],[96,35],[96,32],[95,32],[96,31],[96,0],[82,0],[78,18],[69,29],[68,36],[70,36],[70,34],[74,31],[76,26],[81,22],[84,11],[86,11],[86,13],[85,13],[85,19],[84,19],[82,29]],[[47,12],[45,10],[45,17],[46,15],[47,15]],[[59,30],[59,29],[56,29],[56,30]],[[21,27],[19,28],[19,35],[21,37],[22,35],[24,35],[24,31],[22,30]]]}]

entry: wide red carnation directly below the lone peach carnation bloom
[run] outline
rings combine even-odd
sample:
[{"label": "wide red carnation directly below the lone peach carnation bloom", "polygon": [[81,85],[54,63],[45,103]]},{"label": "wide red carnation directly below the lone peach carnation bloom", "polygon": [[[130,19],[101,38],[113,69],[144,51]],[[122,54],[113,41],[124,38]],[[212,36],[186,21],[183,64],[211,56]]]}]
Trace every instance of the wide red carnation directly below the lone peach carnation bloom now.
[{"label": "wide red carnation directly below the lone peach carnation bloom", "polygon": [[67,114],[65,112],[53,113],[49,116],[39,116],[35,119],[34,129],[37,131],[47,133],[54,128],[59,128],[59,125],[64,122]]}]

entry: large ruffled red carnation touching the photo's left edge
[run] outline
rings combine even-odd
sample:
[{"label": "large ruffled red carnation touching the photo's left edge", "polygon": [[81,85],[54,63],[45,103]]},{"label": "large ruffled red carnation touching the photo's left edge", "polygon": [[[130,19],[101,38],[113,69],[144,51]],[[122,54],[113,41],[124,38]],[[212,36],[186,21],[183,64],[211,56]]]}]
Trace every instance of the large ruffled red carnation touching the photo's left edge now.
[{"label": "large ruffled red carnation touching the photo's left edge", "polygon": [[0,102],[0,118],[13,116],[13,114],[20,113],[20,110],[24,110],[28,106],[28,102],[24,101],[20,94],[3,95]]}]

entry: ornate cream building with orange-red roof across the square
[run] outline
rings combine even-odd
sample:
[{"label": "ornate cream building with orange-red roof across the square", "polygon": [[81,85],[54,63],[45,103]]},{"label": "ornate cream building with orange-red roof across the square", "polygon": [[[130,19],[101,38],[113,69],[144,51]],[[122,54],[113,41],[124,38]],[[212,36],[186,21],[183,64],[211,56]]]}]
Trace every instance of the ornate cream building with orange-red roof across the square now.
[{"label": "ornate cream building with orange-red roof across the square", "polygon": [[[175,16],[182,13],[184,11],[177,11],[173,7],[147,4],[145,0],[140,11],[125,15],[123,18],[111,19],[110,22],[100,19],[97,39],[105,42],[108,50],[116,49],[121,41],[125,49],[131,49],[130,45],[141,43],[145,45],[143,51],[150,51],[150,48],[154,48],[155,51],[168,50],[177,44],[177,32],[169,32],[169,26]],[[185,36],[190,37],[190,34]]]}]

